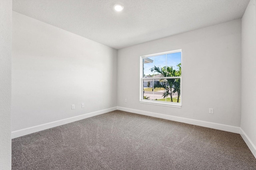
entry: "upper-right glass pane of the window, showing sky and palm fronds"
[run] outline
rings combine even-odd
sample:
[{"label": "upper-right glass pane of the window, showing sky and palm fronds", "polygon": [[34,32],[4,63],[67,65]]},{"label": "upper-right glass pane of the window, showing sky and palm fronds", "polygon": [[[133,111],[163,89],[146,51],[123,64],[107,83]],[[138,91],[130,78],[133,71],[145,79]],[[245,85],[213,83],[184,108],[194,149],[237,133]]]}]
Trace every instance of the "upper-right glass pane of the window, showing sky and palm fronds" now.
[{"label": "upper-right glass pane of the window, showing sky and palm fronds", "polygon": [[167,54],[166,76],[181,76],[181,52]]}]

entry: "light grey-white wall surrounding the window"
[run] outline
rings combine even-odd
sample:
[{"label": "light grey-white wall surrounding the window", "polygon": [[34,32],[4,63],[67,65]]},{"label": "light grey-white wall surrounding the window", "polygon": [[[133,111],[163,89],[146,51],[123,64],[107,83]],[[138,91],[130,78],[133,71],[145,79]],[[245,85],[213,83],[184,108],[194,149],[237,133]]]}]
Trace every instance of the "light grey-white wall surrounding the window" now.
[{"label": "light grey-white wall surrounding the window", "polygon": [[[141,104],[140,56],[176,49],[182,49],[182,108]],[[240,81],[240,19],[118,50],[118,107],[239,129]]]}]

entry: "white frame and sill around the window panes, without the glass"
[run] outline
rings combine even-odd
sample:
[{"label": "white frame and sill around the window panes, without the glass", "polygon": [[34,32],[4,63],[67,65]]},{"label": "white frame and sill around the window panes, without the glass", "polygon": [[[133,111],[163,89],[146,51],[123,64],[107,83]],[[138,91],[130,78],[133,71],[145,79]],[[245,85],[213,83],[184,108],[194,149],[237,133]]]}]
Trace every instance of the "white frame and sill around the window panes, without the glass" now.
[{"label": "white frame and sill around the window panes, without the glass", "polygon": [[[182,102],[182,76],[178,76],[178,77],[161,77],[161,79],[170,79],[170,78],[180,78],[180,102],[162,102],[162,101],[157,101],[157,100],[146,100],[143,99],[143,80],[153,80],[153,84],[154,84],[154,79],[160,79],[159,77],[157,78],[143,78],[143,59],[148,58],[148,57],[154,57],[154,56],[158,56],[158,55],[165,55],[165,54],[170,54],[170,53],[181,53],[181,63],[182,63],[182,50],[178,49],[178,50],[173,50],[173,51],[166,51],[163,53],[156,53],[156,54],[151,54],[151,55],[143,55],[140,56],[140,103],[142,104],[153,104],[153,105],[159,105],[159,106],[170,106],[170,107],[178,107],[181,108],[181,102]],[[182,65],[182,64],[181,64]],[[154,92],[153,92],[154,93]]]}]

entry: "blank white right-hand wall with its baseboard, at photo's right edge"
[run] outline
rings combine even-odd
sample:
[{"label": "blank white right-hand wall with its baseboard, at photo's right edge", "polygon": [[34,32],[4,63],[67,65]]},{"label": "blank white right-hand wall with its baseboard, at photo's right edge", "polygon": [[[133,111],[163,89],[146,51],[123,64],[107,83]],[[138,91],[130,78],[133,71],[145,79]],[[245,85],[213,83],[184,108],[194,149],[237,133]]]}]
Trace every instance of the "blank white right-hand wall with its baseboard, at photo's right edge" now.
[{"label": "blank white right-hand wall with its baseboard, at photo's right edge", "polygon": [[[256,0],[242,18],[242,117],[241,128],[256,157]],[[250,142],[250,143],[248,143]],[[251,145],[250,145],[251,144]]]}]

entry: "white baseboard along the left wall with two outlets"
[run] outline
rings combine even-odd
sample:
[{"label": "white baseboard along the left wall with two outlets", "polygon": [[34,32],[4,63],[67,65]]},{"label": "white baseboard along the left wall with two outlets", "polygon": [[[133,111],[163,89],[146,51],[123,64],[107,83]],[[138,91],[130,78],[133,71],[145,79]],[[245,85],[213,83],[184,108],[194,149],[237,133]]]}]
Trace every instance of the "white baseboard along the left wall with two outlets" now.
[{"label": "white baseboard along the left wall with two outlets", "polygon": [[70,117],[70,118],[62,119],[62,120],[58,120],[58,121],[53,121],[53,122],[45,123],[45,124],[42,124],[42,125],[28,127],[28,128],[25,128],[25,129],[20,129],[18,131],[12,131],[12,139],[14,139],[16,137],[21,137],[21,136],[24,136],[24,135],[28,135],[30,133],[35,133],[35,132],[43,131],[43,130],[46,130],[46,129],[50,129],[52,127],[56,127],[56,126],[64,125],[64,124],[67,124],[67,123],[71,123],[71,122],[74,122],[74,121],[86,119],[88,117],[100,115],[100,114],[107,113],[107,112],[114,111],[114,110],[116,110],[116,107],[112,107],[112,108],[108,108],[108,109],[104,109],[104,110],[100,110],[100,111],[95,111],[95,112],[92,112],[92,113],[86,113],[84,115]]}]

